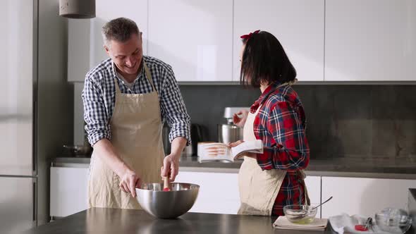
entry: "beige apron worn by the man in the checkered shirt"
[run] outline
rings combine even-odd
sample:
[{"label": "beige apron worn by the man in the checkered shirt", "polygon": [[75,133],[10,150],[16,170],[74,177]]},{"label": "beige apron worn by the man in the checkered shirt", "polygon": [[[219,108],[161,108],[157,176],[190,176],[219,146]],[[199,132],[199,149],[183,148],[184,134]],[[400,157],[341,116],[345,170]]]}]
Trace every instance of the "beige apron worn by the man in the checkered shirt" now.
[{"label": "beige apron worn by the man in the checkered shirt", "polygon": [[[116,102],[110,121],[111,143],[116,154],[133,168],[142,183],[159,183],[164,159],[159,97],[149,68],[143,63],[152,92],[123,94],[114,79]],[[116,173],[93,153],[88,183],[89,207],[141,209],[135,198],[121,190],[119,183]]]}]

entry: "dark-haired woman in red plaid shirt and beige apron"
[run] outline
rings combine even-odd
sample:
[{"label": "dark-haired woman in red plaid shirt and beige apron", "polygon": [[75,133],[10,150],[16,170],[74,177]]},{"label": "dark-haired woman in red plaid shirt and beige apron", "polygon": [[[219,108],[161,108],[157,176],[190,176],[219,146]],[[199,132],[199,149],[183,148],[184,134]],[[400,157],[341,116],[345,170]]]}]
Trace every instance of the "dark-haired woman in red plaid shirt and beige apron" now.
[{"label": "dark-haired woman in red plaid shirt and beige apron", "polygon": [[234,116],[234,123],[244,126],[244,141],[262,140],[264,152],[244,157],[238,175],[238,214],[280,216],[286,205],[309,204],[302,173],[310,156],[305,111],[290,87],[296,71],[279,40],[259,30],[241,38],[240,83],[259,87],[262,94],[250,113]]}]

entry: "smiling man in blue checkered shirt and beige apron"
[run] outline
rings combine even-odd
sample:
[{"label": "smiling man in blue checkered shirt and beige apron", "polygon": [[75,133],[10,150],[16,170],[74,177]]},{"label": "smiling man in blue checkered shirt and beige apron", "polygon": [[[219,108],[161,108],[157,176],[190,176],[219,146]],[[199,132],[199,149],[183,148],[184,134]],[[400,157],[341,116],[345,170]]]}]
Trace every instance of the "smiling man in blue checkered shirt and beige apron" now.
[{"label": "smiling man in blue checkered shirt and beige apron", "polygon": [[[175,180],[190,144],[190,117],[171,66],[142,54],[142,32],[133,20],[116,18],[102,28],[109,58],[85,78],[85,130],[94,147],[90,207],[140,209],[141,183]],[[171,126],[171,154],[164,157],[162,120]],[[163,171],[161,166],[163,165]]]}]

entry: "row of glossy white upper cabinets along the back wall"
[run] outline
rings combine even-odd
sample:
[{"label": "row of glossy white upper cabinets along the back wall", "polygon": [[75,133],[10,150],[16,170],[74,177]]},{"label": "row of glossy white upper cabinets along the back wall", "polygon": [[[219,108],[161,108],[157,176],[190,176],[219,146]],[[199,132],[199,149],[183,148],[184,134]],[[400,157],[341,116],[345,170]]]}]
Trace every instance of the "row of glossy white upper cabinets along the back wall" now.
[{"label": "row of glossy white upper cabinets along the back wall", "polygon": [[415,81],[416,0],[111,0],[96,18],[68,20],[68,80],[84,81],[108,58],[101,29],[127,17],[143,53],[179,82],[240,80],[240,35],[275,35],[300,81]]}]

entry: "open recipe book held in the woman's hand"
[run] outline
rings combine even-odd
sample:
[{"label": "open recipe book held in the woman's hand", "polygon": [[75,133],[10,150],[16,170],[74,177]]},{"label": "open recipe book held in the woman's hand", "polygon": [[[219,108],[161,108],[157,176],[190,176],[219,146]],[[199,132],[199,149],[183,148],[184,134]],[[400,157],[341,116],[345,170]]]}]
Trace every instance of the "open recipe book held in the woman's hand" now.
[{"label": "open recipe book held in the woman's hand", "polygon": [[224,143],[216,142],[200,142],[198,143],[198,161],[216,161],[216,160],[228,160],[234,161],[242,159],[247,152],[262,154],[263,142],[262,140],[250,140],[238,144],[236,147],[228,147]]}]

